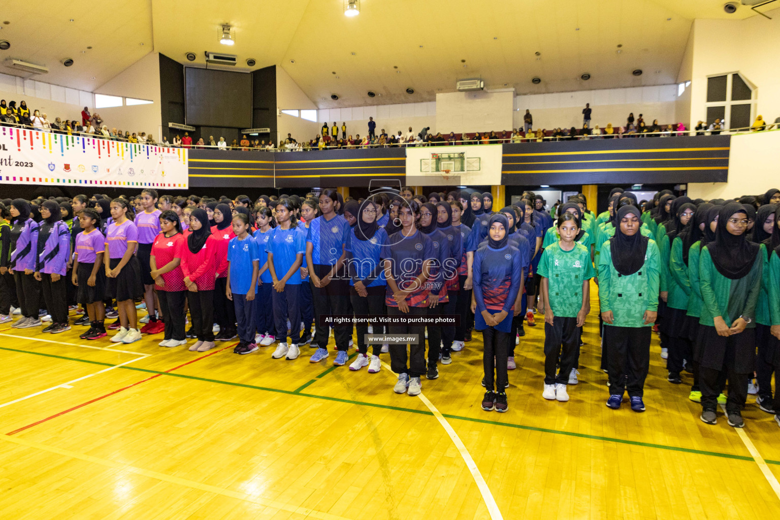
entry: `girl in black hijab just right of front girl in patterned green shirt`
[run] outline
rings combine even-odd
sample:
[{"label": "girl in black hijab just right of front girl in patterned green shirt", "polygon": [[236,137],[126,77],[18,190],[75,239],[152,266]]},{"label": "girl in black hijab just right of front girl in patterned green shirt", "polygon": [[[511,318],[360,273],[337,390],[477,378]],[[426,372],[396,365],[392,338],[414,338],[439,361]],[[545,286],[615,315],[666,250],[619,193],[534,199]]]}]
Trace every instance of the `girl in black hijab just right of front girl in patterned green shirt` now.
[{"label": "girl in black hijab just right of front girl in patterned green shirt", "polygon": [[[690,359],[690,341],[686,327],[686,312],[688,309],[688,292],[686,285],[685,264],[683,260],[683,241],[679,233],[693,219],[696,206],[685,202],[688,197],[679,197],[672,203],[672,221],[666,235],[661,237],[658,248],[661,251],[661,299],[664,300],[664,317],[661,320],[661,332],[665,334],[664,346],[668,358],[666,368],[667,380],[672,384],[680,384],[680,373],[683,371],[683,359]],[[690,200],[690,199],[689,199]],[[675,259],[677,262],[675,263]]]}]

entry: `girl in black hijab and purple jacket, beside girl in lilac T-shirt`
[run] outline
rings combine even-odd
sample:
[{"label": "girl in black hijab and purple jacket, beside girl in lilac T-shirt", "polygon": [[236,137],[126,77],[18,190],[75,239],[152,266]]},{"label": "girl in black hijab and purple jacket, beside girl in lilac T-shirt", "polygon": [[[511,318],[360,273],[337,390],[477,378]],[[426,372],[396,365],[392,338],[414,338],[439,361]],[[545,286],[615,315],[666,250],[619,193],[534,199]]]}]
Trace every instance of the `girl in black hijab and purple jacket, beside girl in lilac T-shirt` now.
[{"label": "girl in black hijab and purple jacket, beside girl in lilac T-shirt", "polygon": [[58,203],[46,200],[41,205],[41,227],[38,231],[35,279],[41,281],[46,310],[51,314],[51,325],[44,332],[57,334],[69,331],[66,279],[70,256],[70,231],[62,221]]}]

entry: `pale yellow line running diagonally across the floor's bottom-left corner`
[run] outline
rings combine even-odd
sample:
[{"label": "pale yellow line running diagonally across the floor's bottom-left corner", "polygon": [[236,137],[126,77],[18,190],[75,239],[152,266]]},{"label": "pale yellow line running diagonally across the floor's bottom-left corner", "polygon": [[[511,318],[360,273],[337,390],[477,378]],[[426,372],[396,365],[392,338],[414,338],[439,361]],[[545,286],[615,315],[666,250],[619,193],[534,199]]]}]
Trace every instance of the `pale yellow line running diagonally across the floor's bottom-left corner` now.
[{"label": "pale yellow line running diagonally across the floor's bottom-left corner", "polygon": [[347,518],[345,517],[338,516],[338,515],[331,515],[330,513],[325,513],[323,511],[315,511],[314,509],[301,508],[291,504],[285,504],[284,502],[272,501],[267,498],[253,497],[252,495],[246,493],[239,493],[237,491],[225,490],[222,487],[210,486],[208,484],[195,482],[194,480],[182,479],[178,476],[166,475],[165,473],[151,471],[150,469],[138,468],[137,466],[122,464],[121,462],[114,462],[105,458],[93,457],[92,455],[78,453],[76,451],[65,450],[59,447],[49,446],[48,444],[41,444],[40,442],[23,439],[22,437],[10,437],[9,435],[4,434],[4,435],[0,435],[0,439],[6,440],[14,444],[19,444],[20,446],[34,447],[38,450],[48,451],[49,453],[62,455],[63,457],[76,458],[82,461],[103,465],[108,468],[119,469],[122,471],[135,473],[136,475],[147,476],[151,479],[158,479],[161,480],[162,482],[168,482],[172,484],[178,484],[179,486],[190,487],[194,490],[207,491],[208,493],[215,493],[218,495],[222,495],[223,497],[232,497],[232,498],[237,498],[238,500],[252,502],[253,504],[260,504],[268,508],[275,508],[283,511],[289,511],[292,513],[296,513],[297,515],[302,515],[304,517],[322,518],[322,520],[347,520]]}]

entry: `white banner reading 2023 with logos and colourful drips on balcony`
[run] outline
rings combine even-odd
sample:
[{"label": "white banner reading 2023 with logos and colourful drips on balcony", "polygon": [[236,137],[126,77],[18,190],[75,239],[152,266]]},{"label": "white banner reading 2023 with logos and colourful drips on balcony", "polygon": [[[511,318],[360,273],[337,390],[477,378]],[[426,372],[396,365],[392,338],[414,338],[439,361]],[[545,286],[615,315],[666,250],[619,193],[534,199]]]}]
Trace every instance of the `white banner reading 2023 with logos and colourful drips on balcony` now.
[{"label": "white banner reading 2023 with logos and colourful drips on balcony", "polygon": [[0,127],[0,182],[186,188],[187,150]]}]

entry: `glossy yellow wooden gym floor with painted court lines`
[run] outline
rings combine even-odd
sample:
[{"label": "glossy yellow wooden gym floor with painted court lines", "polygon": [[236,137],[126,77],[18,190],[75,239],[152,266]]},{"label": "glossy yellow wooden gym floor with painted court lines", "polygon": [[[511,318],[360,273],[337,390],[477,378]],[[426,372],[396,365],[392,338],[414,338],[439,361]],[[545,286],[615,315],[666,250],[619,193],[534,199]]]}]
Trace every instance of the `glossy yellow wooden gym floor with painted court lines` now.
[{"label": "glossy yellow wooden gym floor with painted court lines", "polygon": [[744,430],[702,423],[655,336],[647,412],[608,409],[593,307],[571,400],[541,398],[538,324],[505,414],[480,409],[480,334],[412,398],[386,365],[313,365],[310,348],[286,361],[5,324],[0,518],[778,518],[772,416],[750,396]]}]

